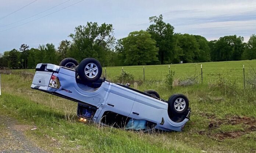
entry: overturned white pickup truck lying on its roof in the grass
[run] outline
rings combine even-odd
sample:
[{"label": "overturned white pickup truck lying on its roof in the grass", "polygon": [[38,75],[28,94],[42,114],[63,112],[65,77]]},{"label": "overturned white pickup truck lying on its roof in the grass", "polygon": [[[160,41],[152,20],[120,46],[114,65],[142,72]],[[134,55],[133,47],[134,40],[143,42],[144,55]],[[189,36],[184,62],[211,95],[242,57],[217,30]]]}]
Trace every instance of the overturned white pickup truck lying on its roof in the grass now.
[{"label": "overturned white pickup truck lying on its roof in the grass", "polygon": [[190,117],[185,95],[174,94],[168,101],[154,90],[138,91],[101,78],[102,66],[94,58],[78,62],[72,58],[60,66],[40,63],[31,85],[78,102],[77,116],[95,123],[132,130],[182,131]]}]

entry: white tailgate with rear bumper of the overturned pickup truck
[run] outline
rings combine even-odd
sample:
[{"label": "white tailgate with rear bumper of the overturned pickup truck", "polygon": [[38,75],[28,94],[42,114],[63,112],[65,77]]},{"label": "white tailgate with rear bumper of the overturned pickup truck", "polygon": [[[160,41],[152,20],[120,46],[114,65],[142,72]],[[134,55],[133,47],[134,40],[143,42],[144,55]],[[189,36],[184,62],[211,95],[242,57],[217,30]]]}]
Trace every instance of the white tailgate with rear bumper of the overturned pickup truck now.
[{"label": "white tailgate with rear bumper of the overturned pickup truck", "polygon": [[36,65],[36,73],[33,78],[31,88],[47,91],[51,80],[51,75],[54,72],[58,72],[59,69],[60,66],[54,64],[40,63]]}]

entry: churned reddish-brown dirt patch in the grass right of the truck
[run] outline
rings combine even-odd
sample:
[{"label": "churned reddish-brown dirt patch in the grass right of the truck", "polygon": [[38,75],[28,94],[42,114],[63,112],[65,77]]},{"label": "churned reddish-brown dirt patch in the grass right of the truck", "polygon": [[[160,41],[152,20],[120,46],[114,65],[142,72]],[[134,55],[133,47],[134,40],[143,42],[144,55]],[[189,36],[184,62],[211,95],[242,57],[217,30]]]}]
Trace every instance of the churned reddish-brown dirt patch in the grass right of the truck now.
[{"label": "churned reddish-brown dirt patch in the grass right of the truck", "polygon": [[[225,116],[223,119],[218,119],[214,114],[200,113],[200,115],[207,117],[210,120],[208,130],[199,131],[200,135],[207,135],[210,138],[219,141],[225,138],[239,138],[240,136],[249,132],[256,131],[256,118],[246,116]],[[229,125],[231,127],[241,125],[242,129],[235,131],[221,131],[222,125]]]}]

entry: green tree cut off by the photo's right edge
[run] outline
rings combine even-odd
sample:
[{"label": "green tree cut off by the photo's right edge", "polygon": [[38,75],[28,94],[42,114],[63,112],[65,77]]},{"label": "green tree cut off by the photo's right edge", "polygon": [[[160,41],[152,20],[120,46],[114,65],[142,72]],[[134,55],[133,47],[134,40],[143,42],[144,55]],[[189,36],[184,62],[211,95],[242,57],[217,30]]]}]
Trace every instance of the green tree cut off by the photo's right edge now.
[{"label": "green tree cut off by the photo's right edge", "polygon": [[256,59],[256,35],[252,34],[248,43],[245,45],[245,51],[243,52],[242,59]]}]

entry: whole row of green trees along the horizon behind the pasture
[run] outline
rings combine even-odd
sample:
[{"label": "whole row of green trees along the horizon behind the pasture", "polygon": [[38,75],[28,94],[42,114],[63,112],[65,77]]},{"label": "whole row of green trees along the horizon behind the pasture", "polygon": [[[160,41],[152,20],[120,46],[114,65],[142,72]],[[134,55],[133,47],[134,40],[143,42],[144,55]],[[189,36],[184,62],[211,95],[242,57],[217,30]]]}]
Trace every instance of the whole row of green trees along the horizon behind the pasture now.
[{"label": "whole row of green trees along the horizon behind the pasture", "polygon": [[56,48],[54,44],[29,48],[22,44],[0,54],[0,67],[32,68],[37,63],[58,64],[71,57],[81,61],[92,57],[102,66],[157,65],[209,61],[236,61],[256,59],[256,35],[248,43],[241,36],[224,36],[207,41],[205,37],[192,34],[174,33],[174,27],[163,21],[163,15],[150,17],[145,30],[134,31],[127,37],[116,40],[112,24],[87,22],[75,27],[69,37]]}]

